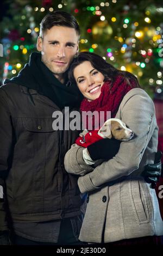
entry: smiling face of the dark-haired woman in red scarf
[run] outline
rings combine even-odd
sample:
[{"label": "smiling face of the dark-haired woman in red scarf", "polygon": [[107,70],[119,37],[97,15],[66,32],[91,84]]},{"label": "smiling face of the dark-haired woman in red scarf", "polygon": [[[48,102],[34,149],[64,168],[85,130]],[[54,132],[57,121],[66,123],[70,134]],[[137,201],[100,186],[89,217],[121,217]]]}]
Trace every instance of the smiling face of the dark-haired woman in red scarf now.
[{"label": "smiling face of the dark-haired woman in red scarf", "polygon": [[104,75],[93,68],[89,61],[76,66],[73,75],[80,92],[87,100],[92,101],[99,97],[104,83]]}]

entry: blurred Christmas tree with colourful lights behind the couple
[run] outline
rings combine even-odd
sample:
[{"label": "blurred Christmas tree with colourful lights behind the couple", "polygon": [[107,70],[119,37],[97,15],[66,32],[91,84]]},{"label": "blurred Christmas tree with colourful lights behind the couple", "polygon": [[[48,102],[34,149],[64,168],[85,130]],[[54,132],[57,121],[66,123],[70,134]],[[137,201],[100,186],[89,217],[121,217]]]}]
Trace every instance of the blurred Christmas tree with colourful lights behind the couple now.
[{"label": "blurred Christmas tree with colourful lights behind the couple", "polygon": [[36,51],[39,24],[49,11],[73,14],[81,28],[80,51],[100,54],[121,70],[132,72],[149,95],[162,95],[162,1],[6,0],[0,22],[1,83],[18,74]]}]

